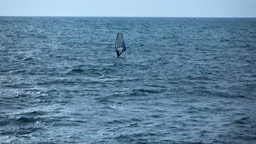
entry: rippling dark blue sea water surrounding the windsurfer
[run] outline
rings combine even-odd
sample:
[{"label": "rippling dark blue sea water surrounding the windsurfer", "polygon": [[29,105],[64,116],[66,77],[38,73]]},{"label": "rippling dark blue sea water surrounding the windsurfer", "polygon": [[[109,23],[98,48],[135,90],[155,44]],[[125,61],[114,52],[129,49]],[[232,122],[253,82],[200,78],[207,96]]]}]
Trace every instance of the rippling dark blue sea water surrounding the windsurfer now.
[{"label": "rippling dark blue sea water surrounding the windsurfer", "polygon": [[256,144],[256,19],[0,17],[0,143]]}]

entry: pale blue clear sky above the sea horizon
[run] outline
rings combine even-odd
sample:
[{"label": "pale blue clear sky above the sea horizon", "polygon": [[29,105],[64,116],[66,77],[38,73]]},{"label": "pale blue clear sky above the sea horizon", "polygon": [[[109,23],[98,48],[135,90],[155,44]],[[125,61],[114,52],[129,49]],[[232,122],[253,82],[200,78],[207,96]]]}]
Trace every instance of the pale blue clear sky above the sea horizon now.
[{"label": "pale blue clear sky above the sea horizon", "polygon": [[0,0],[0,16],[256,17],[256,0]]}]

